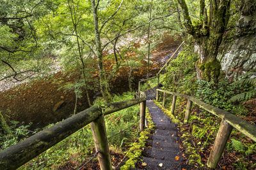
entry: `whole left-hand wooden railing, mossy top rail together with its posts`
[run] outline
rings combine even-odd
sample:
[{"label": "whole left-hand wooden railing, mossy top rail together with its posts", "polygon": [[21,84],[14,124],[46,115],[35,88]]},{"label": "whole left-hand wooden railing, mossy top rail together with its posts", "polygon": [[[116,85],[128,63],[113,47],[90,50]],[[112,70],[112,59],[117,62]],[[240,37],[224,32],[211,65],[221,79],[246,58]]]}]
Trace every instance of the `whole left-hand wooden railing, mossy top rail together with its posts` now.
[{"label": "whole left-hand wooden railing, mossy top rail together with its posts", "polygon": [[140,131],[145,127],[145,94],[138,99],[93,106],[0,152],[0,169],[17,169],[51,146],[91,124],[101,169],[112,169],[104,115],[140,104]]}]

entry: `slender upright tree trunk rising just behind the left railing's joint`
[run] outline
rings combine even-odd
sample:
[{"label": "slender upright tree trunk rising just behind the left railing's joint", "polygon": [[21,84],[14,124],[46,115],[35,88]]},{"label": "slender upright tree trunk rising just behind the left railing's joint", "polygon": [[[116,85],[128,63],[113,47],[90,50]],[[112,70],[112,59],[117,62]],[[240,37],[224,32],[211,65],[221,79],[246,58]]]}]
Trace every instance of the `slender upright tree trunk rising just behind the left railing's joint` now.
[{"label": "slender upright tree trunk rising just behind the left railing's joint", "polygon": [[102,96],[106,100],[106,102],[109,103],[111,101],[111,95],[109,94],[108,81],[107,81],[106,72],[103,66],[103,53],[102,53],[102,46],[101,46],[101,40],[100,40],[97,5],[95,5],[95,0],[91,0],[91,2],[92,2],[94,30],[95,30],[96,55],[97,55],[99,74],[100,74],[100,91],[102,93]]}]

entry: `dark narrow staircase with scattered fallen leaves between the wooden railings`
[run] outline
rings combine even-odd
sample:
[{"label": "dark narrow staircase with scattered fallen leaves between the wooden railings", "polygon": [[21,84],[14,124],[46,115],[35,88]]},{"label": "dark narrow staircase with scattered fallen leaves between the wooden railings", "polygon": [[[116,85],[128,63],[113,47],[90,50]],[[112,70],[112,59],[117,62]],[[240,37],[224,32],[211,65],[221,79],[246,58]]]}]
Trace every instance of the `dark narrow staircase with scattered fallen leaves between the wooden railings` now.
[{"label": "dark narrow staircase with scattered fallen leaves between the wooden railings", "polygon": [[147,108],[156,127],[153,136],[150,136],[151,143],[149,145],[152,148],[149,147],[143,151],[143,169],[182,169],[183,157],[177,136],[177,125],[173,124],[163,111],[154,104],[156,88],[145,91],[145,94],[147,96]]}]

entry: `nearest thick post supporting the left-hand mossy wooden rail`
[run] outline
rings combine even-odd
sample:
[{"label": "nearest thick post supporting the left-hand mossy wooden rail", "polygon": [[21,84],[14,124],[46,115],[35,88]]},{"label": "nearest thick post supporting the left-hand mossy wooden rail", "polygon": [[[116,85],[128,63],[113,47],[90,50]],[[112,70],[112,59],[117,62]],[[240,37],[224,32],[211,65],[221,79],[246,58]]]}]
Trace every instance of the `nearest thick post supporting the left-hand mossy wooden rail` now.
[{"label": "nearest thick post supporting the left-hand mossy wooden rail", "polygon": [[91,123],[91,129],[95,148],[97,151],[99,151],[98,159],[100,169],[111,170],[112,165],[109,155],[108,138],[103,115]]}]

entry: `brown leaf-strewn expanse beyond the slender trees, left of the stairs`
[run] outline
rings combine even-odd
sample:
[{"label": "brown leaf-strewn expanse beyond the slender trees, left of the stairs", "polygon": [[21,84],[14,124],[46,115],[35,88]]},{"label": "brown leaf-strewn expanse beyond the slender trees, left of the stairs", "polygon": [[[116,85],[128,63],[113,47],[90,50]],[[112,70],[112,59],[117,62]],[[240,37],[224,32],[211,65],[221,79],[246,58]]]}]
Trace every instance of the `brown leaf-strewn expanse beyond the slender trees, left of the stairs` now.
[{"label": "brown leaf-strewn expanse beyond the slender trees, left of the stairs", "polygon": [[[153,64],[150,64],[150,73],[156,74],[161,66],[163,66],[164,57],[172,54],[177,48],[180,41],[175,41],[172,37],[166,36],[162,43],[154,49],[153,57],[150,57]],[[127,52],[132,55],[125,57],[136,57],[135,52]],[[93,67],[97,70],[97,60],[94,59]],[[104,61],[107,76],[111,73],[113,61],[106,59]],[[113,93],[122,93],[129,90],[128,67],[120,67],[115,74],[115,77],[110,80],[110,88]],[[89,90],[90,99],[95,99],[95,94],[99,92],[99,75],[95,71],[92,74],[93,82],[90,83],[94,90]],[[147,62],[143,61],[143,67],[134,69],[132,72],[133,87],[138,87],[138,80],[145,78],[147,74]],[[24,83],[12,89],[0,92],[0,111],[3,114],[6,122],[16,120],[29,124],[33,122],[30,130],[44,127],[45,125],[58,122],[67,117],[70,117],[74,112],[75,94],[72,90],[63,90],[63,87],[68,82],[76,82],[77,74],[74,71],[72,76],[58,72],[52,77],[43,78],[42,80],[34,80],[29,83]],[[99,94],[99,93],[98,93]],[[60,105],[60,106],[57,106]],[[55,106],[55,108],[54,108]],[[86,93],[83,92],[83,97],[78,99],[77,111],[82,111],[88,108]]]}]

